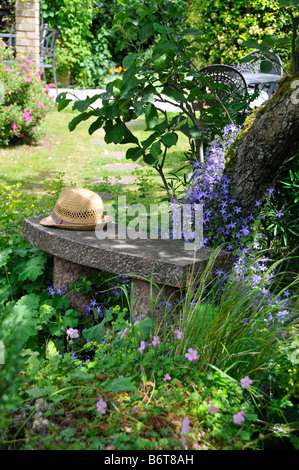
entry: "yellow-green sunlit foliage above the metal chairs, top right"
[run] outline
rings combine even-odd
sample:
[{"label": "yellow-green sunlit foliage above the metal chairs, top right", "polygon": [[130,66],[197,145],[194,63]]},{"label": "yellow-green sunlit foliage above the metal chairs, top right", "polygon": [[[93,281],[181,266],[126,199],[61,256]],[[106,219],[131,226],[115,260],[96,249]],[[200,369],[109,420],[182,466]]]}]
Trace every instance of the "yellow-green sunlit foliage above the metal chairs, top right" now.
[{"label": "yellow-green sunlit foliage above the metal chairs, top right", "polygon": [[[202,32],[196,61],[207,64],[238,63],[246,51],[242,43],[248,39],[261,40],[265,36],[284,37],[290,30],[288,14],[279,8],[276,0],[191,0],[189,21]],[[250,46],[251,47],[251,46]],[[288,53],[283,58],[290,59]]]}]

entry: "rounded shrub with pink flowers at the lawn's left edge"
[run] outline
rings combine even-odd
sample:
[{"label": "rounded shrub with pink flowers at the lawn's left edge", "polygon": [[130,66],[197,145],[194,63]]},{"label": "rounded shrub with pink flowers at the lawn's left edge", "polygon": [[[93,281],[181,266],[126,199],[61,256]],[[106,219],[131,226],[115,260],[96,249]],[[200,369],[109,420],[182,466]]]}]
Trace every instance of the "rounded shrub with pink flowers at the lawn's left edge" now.
[{"label": "rounded shrub with pink flowers at the lawn's left edge", "polygon": [[[6,60],[8,49],[0,46],[0,145],[32,143],[38,140],[37,126],[54,107],[50,85],[44,87],[40,71],[30,60],[17,64]],[[53,108],[54,109],[54,108]]]}]

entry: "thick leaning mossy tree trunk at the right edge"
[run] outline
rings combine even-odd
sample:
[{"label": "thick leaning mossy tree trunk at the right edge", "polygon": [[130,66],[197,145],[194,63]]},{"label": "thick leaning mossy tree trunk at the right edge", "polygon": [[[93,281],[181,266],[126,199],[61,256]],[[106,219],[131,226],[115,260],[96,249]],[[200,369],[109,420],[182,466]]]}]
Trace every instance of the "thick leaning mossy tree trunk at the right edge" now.
[{"label": "thick leaning mossy tree trunk at the right edge", "polygon": [[249,118],[250,124],[230,149],[226,172],[245,213],[267,188],[275,187],[286,163],[298,154],[299,103],[297,91],[290,91],[292,81],[283,81],[276,94]]}]

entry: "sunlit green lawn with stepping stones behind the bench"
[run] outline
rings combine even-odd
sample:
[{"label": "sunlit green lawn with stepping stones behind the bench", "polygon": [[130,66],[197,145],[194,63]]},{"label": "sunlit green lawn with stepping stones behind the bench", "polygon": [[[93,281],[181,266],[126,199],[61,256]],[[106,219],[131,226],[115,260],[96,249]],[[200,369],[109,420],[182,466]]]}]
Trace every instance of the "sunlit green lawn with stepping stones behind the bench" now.
[{"label": "sunlit green lawn with stepping stones behind the bench", "polygon": [[[63,112],[54,111],[46,116],[41,129],[44,137],[34,146],[18,145],[0,149],[2,182],[15,184],[20,182],[22,190],[39,194],[43,191],[43,181],[47,178],[55,178],[59,173],[64,173],[65,183],[74,183],[77,186],[87,186],[98,191],[107,191],[119,194],[128,191],[139,191],[143,184],[143,191],[149,199],[157,200],[164,197],[164,192],[159,188],[161,179],[158,173],[144,164],[142,159],[138,162],[140,168],[133,173],[138,180],[128,185],[107,185],[107,182],[94,185],[92,180],[97,178],[122,177],[132,175],[136,163],[126,160],[124,154],[130,145],[114,145],[104,142],[104,131],[89,135],[88,128],[92,121],[82,122],[73,132],[68,129],[68,123],[75,116],[71,110]],[[142,119],[140,125],[131,127],[132,132],[144,140],[148,137],[145,124]],[[136,124],[136,123],[135,123]],[[179,169],[185,165],[186,158],[183,151],[187,148],[188,140],[181,134],[175,147],[175,151],[169,152],[165,165],[165,173]],[[114,152],[114,154],[111,152]],[[126,163],[127,168],[105,168],[105,165]],[[130,168],[130,166],[132,169]],[[185,172],[190,170],[184,170]],[[143,180],[143,183],[140,183]],[[139,182],[139,185],[138,185]],[[145,184],[145,187],[144,187]],[[152,192],[150,195],[149,192]],[[129,194],[129,193],[128,193]]]}]

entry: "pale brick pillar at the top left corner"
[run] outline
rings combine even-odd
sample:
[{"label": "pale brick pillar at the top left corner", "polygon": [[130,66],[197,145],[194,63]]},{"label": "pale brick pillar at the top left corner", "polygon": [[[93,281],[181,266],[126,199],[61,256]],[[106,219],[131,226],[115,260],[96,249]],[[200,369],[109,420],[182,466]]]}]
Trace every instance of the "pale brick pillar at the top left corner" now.
[{"label": "pale brick pillar at the top left corner", "polygon": [[16,57],[39,68],[39,0],[16,2]]}]

